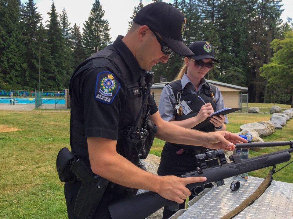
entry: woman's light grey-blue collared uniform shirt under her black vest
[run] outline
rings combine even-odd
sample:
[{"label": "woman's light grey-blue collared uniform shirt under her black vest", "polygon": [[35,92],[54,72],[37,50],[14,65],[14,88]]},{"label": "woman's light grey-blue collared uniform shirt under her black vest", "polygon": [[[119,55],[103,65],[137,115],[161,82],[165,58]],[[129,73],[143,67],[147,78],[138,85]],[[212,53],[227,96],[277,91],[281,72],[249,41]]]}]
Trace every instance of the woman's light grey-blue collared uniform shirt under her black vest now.
[{"label": "woman's light grey-blue collared uniform shirt under her black vest", "polygon": [[[202,87],[202,85],[204,85],[205,83],[208,83],[207,80],[205,78],[202,78],[201,83],[198,86],[198,89],[196,91],[193,83],[191,83],[191,81],[187,77],[186,72],[181,79],[182,89],[186,87],[189,93],[195,94],[195,95],[199,95],[203,92],[204,88]],[[214,94],[214,97],[215,97],[216,111],[220,109],[224,109],[225,108],[224,100],[217,86],[216,86],[216,92]],[[174,97],[172,87],[171,85],[167,85],[162,90],[159,107],[158,107],[159,113],[163,120],[174,121],[174,105],[175,105],[175,97]],[[226,119],[224,123],[229,123],[226,115],[225,117]]]}]

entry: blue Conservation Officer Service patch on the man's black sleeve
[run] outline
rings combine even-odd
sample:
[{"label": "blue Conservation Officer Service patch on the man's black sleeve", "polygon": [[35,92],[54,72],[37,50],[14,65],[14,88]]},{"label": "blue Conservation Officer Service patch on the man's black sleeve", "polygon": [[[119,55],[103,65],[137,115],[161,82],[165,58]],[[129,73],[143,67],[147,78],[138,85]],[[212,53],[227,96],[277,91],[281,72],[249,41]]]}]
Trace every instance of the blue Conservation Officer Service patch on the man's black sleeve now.
[{"label": "blue Conservation Officer Service patch on the man's black sleeve", "polygon": [[114,100],[119,89],[120,83],[113,73],[103,71],[97,75],[96,100],[110,104]]}]

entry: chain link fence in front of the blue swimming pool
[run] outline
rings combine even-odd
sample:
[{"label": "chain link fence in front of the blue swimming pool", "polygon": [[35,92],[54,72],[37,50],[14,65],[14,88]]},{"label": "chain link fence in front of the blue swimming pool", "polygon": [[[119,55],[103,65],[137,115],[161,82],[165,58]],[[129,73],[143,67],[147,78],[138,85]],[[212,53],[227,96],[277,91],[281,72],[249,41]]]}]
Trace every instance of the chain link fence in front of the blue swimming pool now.
[{"label": "chain link fence in front of the blue swimming pool", "polygon": [[67,109],[67,92],[0,90],[0,104],[33,104],[35,109]]}]

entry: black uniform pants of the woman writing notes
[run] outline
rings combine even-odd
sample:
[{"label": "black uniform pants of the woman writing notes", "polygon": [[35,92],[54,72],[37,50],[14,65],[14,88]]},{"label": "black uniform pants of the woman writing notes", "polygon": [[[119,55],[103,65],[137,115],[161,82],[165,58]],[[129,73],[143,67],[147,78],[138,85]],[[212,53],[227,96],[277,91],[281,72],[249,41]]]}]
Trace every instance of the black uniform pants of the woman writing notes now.
[{"label": "black uniform pants of the woman writing notes", "polygon": [[[196,169],[197,166],[195,161],[195,155],[191,153],[186,153],[186,152],[183,152],[182,154],[178,155],[176,153],[178,150],[179,148],[174,148],[167,144],[164,145],[164,148],[161,154],[161,162],[157,171],[159,176],[175,175],[180,177],[183,173],[194,171]],[[202,151],[204,151],[204,149]],[[214,165],[209,162],[207,162],[207,164]],[[194,197],[195,196],[193,195],[189,196],[189,200],[193,199]],[[178,210],[184,209],[184,208],[185,208],[185,200],[184,200],[184,203],[179,204]],[[176,211],[171,211],[171,210],[167,210],[167,208],[164,208],[163,219],[168,219],[175,213]]]}]

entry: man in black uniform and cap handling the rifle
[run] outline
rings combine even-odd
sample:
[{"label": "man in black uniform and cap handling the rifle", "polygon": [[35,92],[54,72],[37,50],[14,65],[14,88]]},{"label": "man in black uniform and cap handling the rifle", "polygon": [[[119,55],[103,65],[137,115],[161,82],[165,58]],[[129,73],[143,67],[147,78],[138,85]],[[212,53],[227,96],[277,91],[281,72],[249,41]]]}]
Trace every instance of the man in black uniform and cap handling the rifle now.
[{"label": "man in black uniform and cap handling the rifle", "polygon": [[[93,173],[110,180],[92,218],[111,218],[107,207],[127,196],[126,187],[151,190],[182,203],[190,195],[186,184],[206,180],[157,176],[130,162],[128,154],[132,157],[133,151],[125,143],[125,130],[134,125],[141,106],[149,110],[150,119],[157,125],[156,137],[162,140],[226,150],[234,150],[233,143],[246,142],[229,132],[206,134],[176,126],[161,119],[152,96],[146,105],[143,103],[146,70],[160,61],[166,63],[172,51],[183,56],[194,54],[182,42],[186,21],[172,5],[151,3],[133,21],[125,37],[118,36],[112,45],[83,62],[70,82],[71,152]],[[135,148],[137,145],[140,143]],[[65,182],[69,218],[77,218],[74,205],[80,187],[80,180]]]}]

